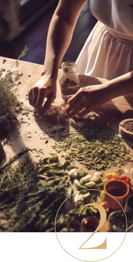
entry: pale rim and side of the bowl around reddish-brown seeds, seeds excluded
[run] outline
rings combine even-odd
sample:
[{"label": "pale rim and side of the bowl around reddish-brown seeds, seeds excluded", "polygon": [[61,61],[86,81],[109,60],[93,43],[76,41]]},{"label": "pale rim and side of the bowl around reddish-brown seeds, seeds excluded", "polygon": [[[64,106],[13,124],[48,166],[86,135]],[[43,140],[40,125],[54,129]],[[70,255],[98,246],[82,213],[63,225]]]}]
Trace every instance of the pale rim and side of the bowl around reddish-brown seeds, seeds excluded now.
[{"label": "pale rim and side of the bowl around reddish-brown seeds, seeds excluded", "polygon": [[123,138],[133,141],[133,132],[129,132],[124,128],[124,124],[129,121],[133,121],[133,118],[121,121],[121,123],[119,124],[119,132]]}]

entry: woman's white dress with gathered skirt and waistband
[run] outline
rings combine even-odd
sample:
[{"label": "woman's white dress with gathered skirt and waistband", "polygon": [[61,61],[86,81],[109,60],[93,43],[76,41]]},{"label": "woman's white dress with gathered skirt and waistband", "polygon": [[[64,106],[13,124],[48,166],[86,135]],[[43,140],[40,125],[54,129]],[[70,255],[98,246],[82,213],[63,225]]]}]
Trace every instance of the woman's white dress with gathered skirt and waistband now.
[{"label": "woman's white dress with gathered skirt and waistband", "polygon": [[76,60],[78,73],[111,80],[133,71],[133,0],[90,0],[90,10],[99,21]]}]

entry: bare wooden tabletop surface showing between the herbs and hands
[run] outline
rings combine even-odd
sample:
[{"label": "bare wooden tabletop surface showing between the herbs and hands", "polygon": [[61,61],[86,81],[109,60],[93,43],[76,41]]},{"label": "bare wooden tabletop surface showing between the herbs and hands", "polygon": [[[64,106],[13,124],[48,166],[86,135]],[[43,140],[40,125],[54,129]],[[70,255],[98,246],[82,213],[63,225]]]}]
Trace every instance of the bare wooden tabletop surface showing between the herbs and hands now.
[{"label": "bare wooden tabletop surface showing between the herbs and hands", "polygon": [[[6,59],[5,64],[3,64],[3,59]],[[14,61],[15,60],[13,59],[0,57],[0,66],[5,68],[7,71],[7,69],[10,69],[11,66],[14,64]],[[39,80],[43,71],[43,66],[39,64],[19,61],[19,67],[17,68],[17,70],[20,73],[23,72],[23,76],[21,77],[21,85],[19,85],[18,99],[22,101],[25,106],[32,108],[29,105],[28,100],[25,100],[25,93],[28,92],[28,90],[37,82],[37,80]],[[28,75],[30,75],[30,77],[28,77]],[[81,87],[101,84],[107,81],[100,78],[92,78],[86,75],[79,74],[78,76]],[[59,105],[62,102],[63,100],[57,90],[55,105]],[[85,120],[86,123],[94,121],[106,125],[107,122],[109,122],[109,126],[119,132],[119,123],[121,122],[121,120],[131,118],[133,116],[133,93],[113,99],[112,101],[109,101],[97,108],[95,112],[97,115],[93,117],[94,119],[90,117],[88,120]],[[21,118],[22,115],[19,114],[18,119],[16,120],[16,127],[10,135],[9,143],[3,143],[6,159],[8,160],[11,156],[13,157],[15,154],[17,154],[22,147],[29,147],[31,149],[36,148],[38,150],[43,149],[45,155],[48,156],[48,154],[53,151],[52,145],[54,145],[54,142],[59,141],[58,135],[54,134],[55,136],[52,140],[52,143],[48,143],[47,145],[45,144],[45,140],[42,140],[40,138],[43,137],[43,132],[48,133],[48,136],[51,135],[51,128],[48,128],[48,126],[50,126],[50,124],[57,124],[57,119],[52,119],[51,117],[49,117],[49,122],[45,121],[44,123],[42,123],[42,120],[34,117],[33,113],[31,112],[28,114],[28,117],[25,115],[23,116],[23,121],[30,123],[28,125],[28,123],[22,123]],[[68,122],[66,122],[64,119],[62,119],[59,124],[64,126],[66,129],[70,129],[71,121],[74,120],[68,119]],[[30,132],[31,134],[28,132]],[[31,138],[28,138],[29,134],[31,135]],[[130,147],[131,153],[133,153],[133,143],[127,142],[127,145]],[[35,158],[33,154],[32,157],[34,160],[38,160],[38,158]],[[60,160],[63,161],[62,159]],[[80,164],[79,168],[81,168]],[[131,182],[133,182],[133,178],[130,175],[131,168],[133,168],[133,163],[128,163],[128,165],[126,165],[123,170],[125,170],[125,175],[128,175],[131,178]],[[108,171],[112,172],[114,170],[116,170],[116,168],[112,167]],[[106,173],[108,173],[108,171]],[[90,170],[89,173],[93,175],[94,170]]]}]

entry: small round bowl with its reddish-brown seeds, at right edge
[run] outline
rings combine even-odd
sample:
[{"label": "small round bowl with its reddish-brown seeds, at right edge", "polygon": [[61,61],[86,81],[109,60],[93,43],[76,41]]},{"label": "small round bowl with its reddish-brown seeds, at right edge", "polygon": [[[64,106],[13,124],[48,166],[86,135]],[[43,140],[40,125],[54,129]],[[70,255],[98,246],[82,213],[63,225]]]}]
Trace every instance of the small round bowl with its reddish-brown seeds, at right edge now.
[{"label": "small round bowl with its reddish-brown seeds, at right edge", "polygon": [[133,118],[121,121],[119,132],[123,138],[133,141]]}]

